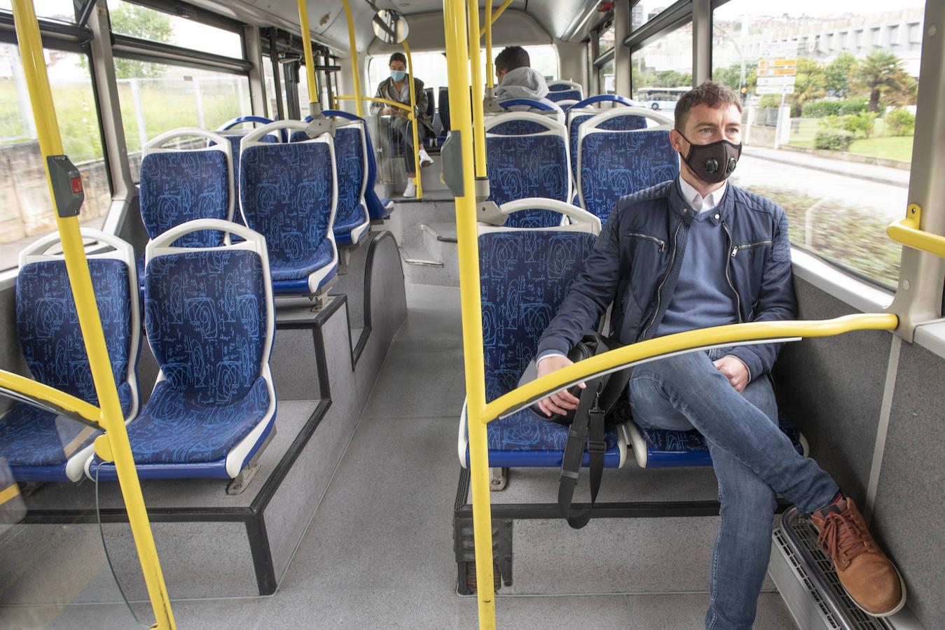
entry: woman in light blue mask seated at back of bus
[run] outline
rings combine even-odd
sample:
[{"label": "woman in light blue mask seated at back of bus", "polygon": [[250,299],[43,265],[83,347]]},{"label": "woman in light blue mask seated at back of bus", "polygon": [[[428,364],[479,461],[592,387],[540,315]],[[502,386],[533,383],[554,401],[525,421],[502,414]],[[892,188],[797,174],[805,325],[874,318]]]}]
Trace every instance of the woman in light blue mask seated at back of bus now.
[{"label": "woman in light blue mask seated at back of bus", "polygon": [[[420,121],[420,127],[417,128],[417,139],[422,143],[423,139],[436,135],[433,130],[433,120],[426,113],[427,102],[426,93],[423,91],[423,81],[416,77],[410,77],[406,74],[407,60],[404,53],[394,53],[387,62],[390,68],[390,77],[387,77],[377,86],[375,98],[384,98],[388,101],[395,101],[410,105],[410,83],[414,82],[414,98],[416,99],[417,109],[414,115]],[[404,139],[404,166],[407,174],[407,187],[404,189],[404,196],[411,197],[417,195],[417,185],[414,178],[417,177],[417,165],[414,161],[413,145],[413,124],[407,119],[407,111],[397,107],[391,107],[385,103],[372,102],[370,112],[374,115],[380,113],[382,116],[393,116],[390,122],[394,134],[400,134]],[[422,145],[420,147],[420,165],[425,168],[433,164],[433,159],[427,155]]]}]

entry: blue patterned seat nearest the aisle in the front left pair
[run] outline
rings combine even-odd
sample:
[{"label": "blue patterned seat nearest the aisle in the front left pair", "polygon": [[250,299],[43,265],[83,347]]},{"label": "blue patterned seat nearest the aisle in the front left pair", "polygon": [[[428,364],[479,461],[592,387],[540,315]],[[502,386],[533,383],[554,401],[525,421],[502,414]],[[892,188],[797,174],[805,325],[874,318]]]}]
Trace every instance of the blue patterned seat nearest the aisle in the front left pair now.
[{"label": "blue patterned seat nearest the aisle in the front left pair", "polygon": [[[249,249],[158,255],[147,265],[148,342],[161,369],[129,440],[142,479],[231,478],[275,421],[260,256]],[[95,457],[89,475],[116,478]]]}]

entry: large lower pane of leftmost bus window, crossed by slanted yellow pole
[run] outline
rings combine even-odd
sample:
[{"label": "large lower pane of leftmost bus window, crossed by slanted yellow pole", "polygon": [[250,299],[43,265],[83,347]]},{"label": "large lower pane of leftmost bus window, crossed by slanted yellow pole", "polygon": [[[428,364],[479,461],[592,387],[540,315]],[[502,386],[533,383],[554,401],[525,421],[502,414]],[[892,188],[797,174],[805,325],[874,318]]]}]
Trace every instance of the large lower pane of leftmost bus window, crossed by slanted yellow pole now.
[{"label": "large lower pane of leftmost bus window, crossed by slanted yellow pole", "polygon": [[[82,174],[81,224],[101,228],[112,189],[88,58],[50,49],[45,58],[63,149]],[[56,230],[19,50],[9,43],[0,43],[0,181],[0,269],[9,269],[27,243]]]}]

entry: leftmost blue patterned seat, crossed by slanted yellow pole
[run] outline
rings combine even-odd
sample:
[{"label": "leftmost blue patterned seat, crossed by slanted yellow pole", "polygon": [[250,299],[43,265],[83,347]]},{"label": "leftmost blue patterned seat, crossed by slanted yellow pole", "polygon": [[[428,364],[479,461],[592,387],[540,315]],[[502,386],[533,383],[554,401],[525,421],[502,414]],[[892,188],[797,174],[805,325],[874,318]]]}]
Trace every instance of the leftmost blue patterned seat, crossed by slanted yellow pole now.
[{"label": "leftmost blue patterned seat, crossed by slanted yellow pole", "polygon": [[[132,270],[117,259],[90,257],[89,271],[118,399],[128,419],[136,413],[138,399],[138,344],[131,348],[132,329],[139,326],[132,322],[131,299],[137,299],[129,285]],[[20,268],[16,328],[33,379],[98,404],[64,261]],[[99,434],[77,420],[17,402],[0,417],[0,456],[19,482],[77,481]]]}]

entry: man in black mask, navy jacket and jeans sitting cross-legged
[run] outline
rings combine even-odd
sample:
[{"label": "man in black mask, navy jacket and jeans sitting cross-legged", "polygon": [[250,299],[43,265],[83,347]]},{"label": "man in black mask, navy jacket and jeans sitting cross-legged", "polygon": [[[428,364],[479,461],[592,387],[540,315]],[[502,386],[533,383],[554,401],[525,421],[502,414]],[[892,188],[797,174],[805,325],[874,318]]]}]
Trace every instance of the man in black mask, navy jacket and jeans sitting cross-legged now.
[{"label": "man in black mask, navy jacket and jeans sitting cross-legged", "polygon": [[[584,272],[541,336],[538,374],[565,354],[612,302],[624,344],[743,321],[794,319],[791,245],[782,208],[727,182],[741,156],[741,102],[706,81],[676,106],[670,143],[679,178],[628,195],[597,239]],[[705,437],[719,485],[707,628],[750,628],[771,551],[776,493],[810,514],[840,582],[870,615],[898,611],[902,578],[853,501],[778,428],[769,371],[780,344],[696,351],[636,366],[634,420]],[[582,385],[583,386],[583,385]],[[546,414],[576,409],[566,390]]]}]

